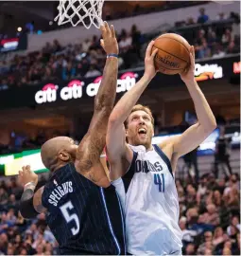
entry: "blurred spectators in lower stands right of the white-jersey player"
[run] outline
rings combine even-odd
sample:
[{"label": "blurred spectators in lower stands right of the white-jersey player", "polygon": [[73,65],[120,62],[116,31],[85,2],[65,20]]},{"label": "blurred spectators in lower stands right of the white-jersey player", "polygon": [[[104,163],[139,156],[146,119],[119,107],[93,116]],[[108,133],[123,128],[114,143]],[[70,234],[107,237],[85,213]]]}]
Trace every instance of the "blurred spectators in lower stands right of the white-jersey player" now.
[{"label": "blurred spectators in lower stands right of the white-jersey player", "polygon": [[[188,197],[193,191],[190,189],[193,186],[186,180],[177,180],[176,183],[179,192],[187,191],[184,201],[179,196],[180,205],[186,205],[186,209],[181,210],[180,218],[183,254],[222,255],[224,252],[229,252],[229,255],[240,255],[239,183],[239,189],[235,188],[235,207],[231,208],[230,204],[226,203],[226,193],[232,193],[232,175],[227,182],[224,181],[222,192],[218,189],[220,188],[219,180],[214,179],[212,174],[201,176],[197,196],[192,197],[192,204]],[[223,222],[224,209],[229,211],[225,222]]]}]

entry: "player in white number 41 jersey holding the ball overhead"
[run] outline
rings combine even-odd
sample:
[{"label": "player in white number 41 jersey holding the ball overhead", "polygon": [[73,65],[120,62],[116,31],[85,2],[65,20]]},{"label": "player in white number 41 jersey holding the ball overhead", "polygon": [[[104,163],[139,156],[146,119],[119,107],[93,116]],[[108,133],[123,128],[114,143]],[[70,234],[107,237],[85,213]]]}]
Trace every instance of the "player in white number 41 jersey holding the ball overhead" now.
[{"label": "player in white number 41 jersey holding the ball overhead", "polygon": [[147,107],[134,105],[156,74],[153,64],[156,51],[151,54],[152,46],[153,42],[146,49],[143,78],[112,110],[107,155],[113,184],[125,205],[129,254],[181,255],[175,168],[179,157],[197,148],[214,131],[216,123],[195,81],[195,52],[191,46],[191,65],[181,74],[181,80],[194,101],[198,122],[181,136],[151,145],[154,135],[151,112]]}]

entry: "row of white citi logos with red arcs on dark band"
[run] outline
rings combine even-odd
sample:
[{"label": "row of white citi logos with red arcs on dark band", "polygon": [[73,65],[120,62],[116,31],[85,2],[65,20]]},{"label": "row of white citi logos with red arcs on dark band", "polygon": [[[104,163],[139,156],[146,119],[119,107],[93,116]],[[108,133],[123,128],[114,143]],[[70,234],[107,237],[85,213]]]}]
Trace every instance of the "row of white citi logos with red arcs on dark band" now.
[{"label": "row of white citi logos with red arcs on dark band", "polygon": [[[116,92],[126,92],[136,83],[137,74],[132,72],[124,73],[120,79],[117,80]],[[60,98],[62,101],[69,101],[72,99],[80,99],[83,96],[83,91],[89,97],[95,97],[102,77],[95,78],[94,82],[85,85],[85,82],[74,80],[68,83],[67,86],[59,89],[58,84],[47,83],[43,89],[35,94],[35,101],[38,104],[46,102],[55,102]]]}]

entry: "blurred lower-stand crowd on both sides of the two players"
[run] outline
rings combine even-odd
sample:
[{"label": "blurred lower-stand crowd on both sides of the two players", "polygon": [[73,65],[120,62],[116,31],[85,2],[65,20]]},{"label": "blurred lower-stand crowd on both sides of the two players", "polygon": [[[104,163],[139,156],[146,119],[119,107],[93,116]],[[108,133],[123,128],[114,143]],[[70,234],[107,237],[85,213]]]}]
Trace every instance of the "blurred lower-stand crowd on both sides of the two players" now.
[{"label": "blurred lower-stand crowd on both sides of the two players", "polygon": [[[42,177],[41,184],[45,182]],[[177,179],[184,255],[240,255],[240,180],[204,174],[198,184]],[[0,182],[0,255],[56,255],[45,214],[25,220],[18,211],[23,189],[15,177]]]}]

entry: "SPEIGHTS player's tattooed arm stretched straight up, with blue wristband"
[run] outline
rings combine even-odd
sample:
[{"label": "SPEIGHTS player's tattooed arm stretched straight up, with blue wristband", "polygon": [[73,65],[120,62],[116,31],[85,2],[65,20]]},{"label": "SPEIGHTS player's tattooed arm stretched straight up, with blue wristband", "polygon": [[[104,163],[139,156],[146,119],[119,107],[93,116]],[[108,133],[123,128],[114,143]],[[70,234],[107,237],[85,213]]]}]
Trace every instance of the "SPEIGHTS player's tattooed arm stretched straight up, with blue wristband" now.
[{"label": "SPEIGHTS player's tattooed arm stretched straight up, with blue wristband", "polygon": [[104,26],[101,27],[101,32],[103,38],[101,46],[106,51],[108,58],[102,81],[95,96],[94,116],[87,134],[78,146],[75,165],[77,172],[83,174],[96,185],[107,187],[110,183],[99,156],[106,144],[108,119],[115,101],[119,49],[113,26],[110,29],[105,22]]}]

